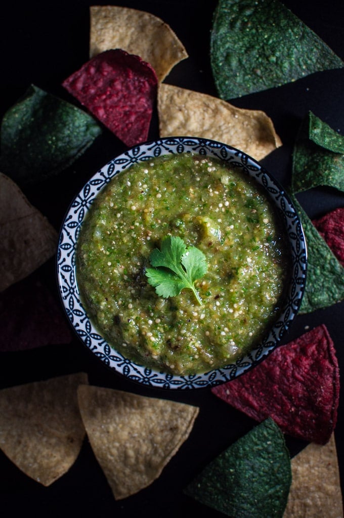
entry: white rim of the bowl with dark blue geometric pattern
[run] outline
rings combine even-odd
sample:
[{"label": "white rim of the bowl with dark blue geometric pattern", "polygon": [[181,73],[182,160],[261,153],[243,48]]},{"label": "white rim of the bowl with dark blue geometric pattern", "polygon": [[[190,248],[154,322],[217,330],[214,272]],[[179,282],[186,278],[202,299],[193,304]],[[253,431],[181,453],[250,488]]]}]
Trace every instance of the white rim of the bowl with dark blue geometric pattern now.
[{"label": "white rim of the bowl with dark blue geometric pattern", "polygon": [[[169,153],[193,152],[200,155],[218,157],[232,167],[240,167],[250,177],[256,179],[268,192],[280,209],[285,229],[289,236],[292,275],[284,307],[277,321],[268,331],[259,347],[247,356],[224,368],[211,370],[193,376],[176,376],[154,371],[123,357],[99,335],[85,312],[80,298],[75,275],[75,254],[80,227],[94,198],[104,186],[119,172],[137,162]],[[58,281],[64,308],[71,325],[95,356],[106,365],[124,375],[127,379],[158,387],[160,389],[196,389],[213,386],[233,380],[243,372],[261,362],[279,344],[299,309],[305,289],[307,269],[307,249],[302,225],[295,209],[278,182],[258,162],[242,151],[213,140],[193,137],[169,137],[144,143],[125,151],[100,169],[75,197],[62,225],[58,248]]]}]

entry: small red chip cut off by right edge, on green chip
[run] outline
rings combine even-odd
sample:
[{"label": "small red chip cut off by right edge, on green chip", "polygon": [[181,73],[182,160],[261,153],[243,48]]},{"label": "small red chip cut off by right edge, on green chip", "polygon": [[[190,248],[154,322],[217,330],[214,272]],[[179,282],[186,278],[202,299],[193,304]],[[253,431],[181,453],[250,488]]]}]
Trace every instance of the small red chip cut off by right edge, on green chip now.
[{"label": "small red chip cut off by right edge, on green chip", "polygon": [[325,239],[329,248],[344,266],[344,207],[339,207],[312,221],[317,231]]}]

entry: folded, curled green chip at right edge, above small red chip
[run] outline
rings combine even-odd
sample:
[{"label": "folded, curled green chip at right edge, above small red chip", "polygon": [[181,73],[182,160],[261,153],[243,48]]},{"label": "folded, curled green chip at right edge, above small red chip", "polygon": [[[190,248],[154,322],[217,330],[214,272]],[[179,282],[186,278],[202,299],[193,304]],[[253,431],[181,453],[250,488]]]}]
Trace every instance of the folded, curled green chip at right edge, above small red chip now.
[{"label": "folded, curled green chip at right edge, above small red chip", "polygon": [[344,191],[344,136],[310,111],[294,146],[292,191],[319,185]]}]

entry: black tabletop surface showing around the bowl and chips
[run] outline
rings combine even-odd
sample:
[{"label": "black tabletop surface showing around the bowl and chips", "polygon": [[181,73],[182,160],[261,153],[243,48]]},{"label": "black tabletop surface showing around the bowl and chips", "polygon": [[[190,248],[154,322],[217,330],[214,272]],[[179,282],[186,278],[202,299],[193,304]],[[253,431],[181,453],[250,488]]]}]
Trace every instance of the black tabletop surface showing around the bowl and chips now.
[{"label": "black tabletop surface showing around the bowl and chips", "polygon": [[[285,1],[292,11],[313,29],[344,59],[344,4],[338,0],[314,2]],[[87,1],[10,2],[0,15],[1,72],[0,116],[22,96],[33,83],[39,88],[75,103],[61,87],[62,81],[89,59],[89,5]],[[100,5],[97,4],[97,5]],[[106,4],[105,4],[106,5]],[[216,1],[156,0],[118,2],[116,5],[146,10],[163,19],[175,31],[187,49],[189,58],[177,64],[165,82],[217,96],[209,59],[211,18]],[[329,70],[277,89],[238,99],[231,103],[242,108],[264,110],[274,122],[283,146],[262,163],[275,177],[288,184],[291,153],[300,121],[308,110],[344,133],[344,70]],[[158,136],[154,114],[149,139]],[[231,142],[228,142],[231,143]],[[94,172],[117,154],[124,144],[104,129],[89,150],[67,171],[24,193],[52,225],[59,230],[71,199]],[[298,196],[311,218],[344,205],[344,195],[332,189],[314,189]],[[0,208],[1,210],[1,208]],[[39,270],[52,293],[59,299],[54,258]],[[340,367],[344,366],[343,308],[337,304],[325,310],[298,315],[287,342],[310,328],[326,324],[331,334]],[[26,477],[0,451],[0,513],[7,517],[28,513],[34,516],[183,516],[195,513],[209,517],[222,514],[199,505],[184,496],[183,487],[234,440],[256,423],[227,406],[209,389],[166,392],[128,382],[109,370],[75,337],[67,346],[20,353],[1,353],[0,387],[37,381],[66,373],[88,372],[94,385],[171,398],[200,408],[189,439],[164,468],[161,477],[138,494],[116,502],[90,445],[85,440],[76,463],[58,481],[43,487]],[[344,480],[344,422],[339,405],[335,430],[341,478]],[[286,437],[291,455],[305,443]]]}]

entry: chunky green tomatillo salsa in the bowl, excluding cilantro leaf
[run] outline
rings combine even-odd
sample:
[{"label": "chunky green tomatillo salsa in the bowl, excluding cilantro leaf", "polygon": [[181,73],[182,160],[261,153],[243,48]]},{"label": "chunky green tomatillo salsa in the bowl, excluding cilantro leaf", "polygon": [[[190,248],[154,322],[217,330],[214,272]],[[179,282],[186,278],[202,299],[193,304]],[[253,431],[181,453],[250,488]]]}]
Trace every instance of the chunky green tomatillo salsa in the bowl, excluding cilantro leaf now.
[{"label": "chunky green tomatillo salsa in the bowl, excluding cilantro leaf", "polygon": [[[163,298],[148,283],[167,236],[206,257],[193,292]],[[177,375],[232,363],[276,318],[289,257],[279,215],[245,172],[193,153],[131,166],[94,200],[78,239],[81,299],[125,357]]]}]

